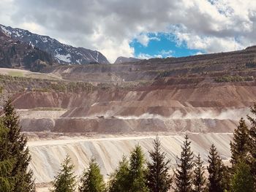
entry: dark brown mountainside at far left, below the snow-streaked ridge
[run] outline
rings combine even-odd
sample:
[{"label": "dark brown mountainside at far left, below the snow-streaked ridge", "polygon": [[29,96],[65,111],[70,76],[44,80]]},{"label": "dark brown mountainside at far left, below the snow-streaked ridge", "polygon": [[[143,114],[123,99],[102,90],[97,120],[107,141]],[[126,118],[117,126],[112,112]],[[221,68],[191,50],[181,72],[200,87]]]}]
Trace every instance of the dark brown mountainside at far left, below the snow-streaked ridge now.
[{"label": "dark brown mountainside at far left, below the snow-streaked ridge", "polygon": [[0,67],[29,69],[37,72],[53,63],[54,58],[49,53],[12,39],[0,31]]}]

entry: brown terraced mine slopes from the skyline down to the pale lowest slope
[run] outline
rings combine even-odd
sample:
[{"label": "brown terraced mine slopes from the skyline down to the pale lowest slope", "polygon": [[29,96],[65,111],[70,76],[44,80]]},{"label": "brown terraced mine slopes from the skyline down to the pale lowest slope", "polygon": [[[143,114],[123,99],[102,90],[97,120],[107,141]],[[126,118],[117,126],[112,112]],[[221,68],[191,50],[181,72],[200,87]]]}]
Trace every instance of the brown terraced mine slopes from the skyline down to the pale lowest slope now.
[{"label": "brown terraced mine slopes from the skyline down to the pale lowest slope", "polygon": [[24,131],[232,132],[256,100],[256,47],[44,72],[63,80],[0,78],[3,93],[12,93],[20,110],[67,110],[57,116],[22,113]]}]

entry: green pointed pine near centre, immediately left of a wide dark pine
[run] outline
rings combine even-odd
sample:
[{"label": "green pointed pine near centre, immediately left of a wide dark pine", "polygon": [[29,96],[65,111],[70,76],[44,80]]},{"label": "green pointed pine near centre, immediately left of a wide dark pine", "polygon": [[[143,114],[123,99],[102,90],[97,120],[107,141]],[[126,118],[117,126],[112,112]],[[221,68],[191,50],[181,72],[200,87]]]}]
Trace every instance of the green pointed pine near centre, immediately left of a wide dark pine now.
[{"label": "green pointed pine near centre, immediately left of a wide dark pine", "polygon": [[144,192],[146,187],[145,159],[140,145],[136,145],[129,158],[129,191]]}]

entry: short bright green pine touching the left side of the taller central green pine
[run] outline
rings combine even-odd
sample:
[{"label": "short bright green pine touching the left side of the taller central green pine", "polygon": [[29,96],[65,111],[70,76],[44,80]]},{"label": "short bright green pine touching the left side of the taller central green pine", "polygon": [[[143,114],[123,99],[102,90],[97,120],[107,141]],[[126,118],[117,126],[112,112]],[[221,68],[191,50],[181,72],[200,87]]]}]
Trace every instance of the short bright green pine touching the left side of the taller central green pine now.
[{"label": "short bright green pine touching the left side of the taller central green pine", "polygon": [[129,191],[129,161],[123,156],[119,161],[118,168],[110,176],[109,191],[110,192],[128,192]]}]

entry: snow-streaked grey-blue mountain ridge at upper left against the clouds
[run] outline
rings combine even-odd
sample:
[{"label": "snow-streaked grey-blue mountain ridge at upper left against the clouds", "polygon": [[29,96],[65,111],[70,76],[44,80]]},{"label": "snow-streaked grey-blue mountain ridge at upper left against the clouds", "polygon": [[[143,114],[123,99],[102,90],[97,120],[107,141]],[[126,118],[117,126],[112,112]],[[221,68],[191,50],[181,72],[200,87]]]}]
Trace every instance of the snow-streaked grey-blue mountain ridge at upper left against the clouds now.
[{"label": "snow-streaked grey-blue mountain ridge at upper left against the clouds", "polygon": [[89,50],[83,47],[72,47],[65,45],[56,39],[21,28],[12,28],[0,24],[0,31],[12,39],[26,42],[32,47],[37,47],[52,55],[59,64],[109,64],[107,58],[96,50]]}]

